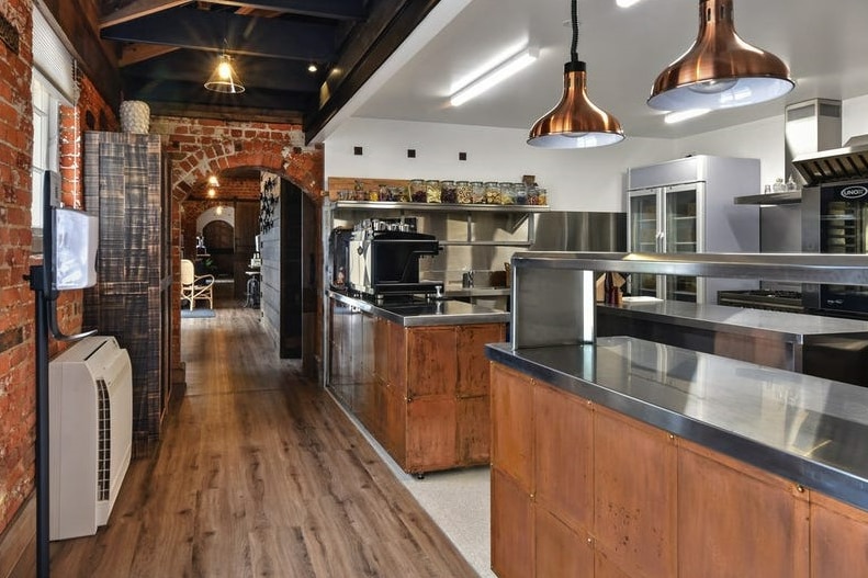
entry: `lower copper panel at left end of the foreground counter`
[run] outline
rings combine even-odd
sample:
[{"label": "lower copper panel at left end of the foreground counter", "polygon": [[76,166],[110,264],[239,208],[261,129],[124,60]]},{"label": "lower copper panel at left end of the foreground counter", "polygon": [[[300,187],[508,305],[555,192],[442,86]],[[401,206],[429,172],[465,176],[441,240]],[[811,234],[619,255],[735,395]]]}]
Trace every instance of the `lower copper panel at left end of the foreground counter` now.
[{"label": "lower copper panel at left end of the foreground counter", "polygon": [[533,541],[530,496],[492,468],[492,569],[499,578],[532,578]]}]

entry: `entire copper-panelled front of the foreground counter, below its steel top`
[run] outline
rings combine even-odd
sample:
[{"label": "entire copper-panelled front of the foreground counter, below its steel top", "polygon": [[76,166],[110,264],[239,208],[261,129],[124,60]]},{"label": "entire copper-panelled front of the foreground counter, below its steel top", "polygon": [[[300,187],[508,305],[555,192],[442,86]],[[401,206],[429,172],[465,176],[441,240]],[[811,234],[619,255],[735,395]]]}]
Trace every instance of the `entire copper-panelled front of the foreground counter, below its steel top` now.
[{"label": "entire copper-panelled front of the foreground counter, below its steel top", "polygon": [[868,576],[868,512],[492,364],[500,578]]}]

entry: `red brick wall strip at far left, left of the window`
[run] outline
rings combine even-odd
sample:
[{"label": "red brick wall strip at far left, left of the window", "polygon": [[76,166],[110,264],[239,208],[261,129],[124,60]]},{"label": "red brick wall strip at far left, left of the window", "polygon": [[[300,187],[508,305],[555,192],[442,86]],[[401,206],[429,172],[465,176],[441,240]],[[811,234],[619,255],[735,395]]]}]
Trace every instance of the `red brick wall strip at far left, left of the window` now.
[{"label": "red brick wall strip at far left, left of the window", "polygon": [[30,0],[0,13],[19,33],[18,54],[0,43],[0,532],[33,491],[34,308],[30,268],[32,18]]}]

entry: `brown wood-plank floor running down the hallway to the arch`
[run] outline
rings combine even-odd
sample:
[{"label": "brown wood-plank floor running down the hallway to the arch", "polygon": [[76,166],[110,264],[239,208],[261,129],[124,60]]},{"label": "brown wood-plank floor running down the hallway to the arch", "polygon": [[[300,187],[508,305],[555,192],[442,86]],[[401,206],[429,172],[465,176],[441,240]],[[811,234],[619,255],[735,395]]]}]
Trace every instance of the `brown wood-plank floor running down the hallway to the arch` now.
[{"label": "brown wood-plank floor running down the hallway to the arch", "polygon": [[[227,302],[232,306],[232,302]],[[52,544],[56,577],[473,577],[258,311],[182,321],[188,389],[109,524]]]}]

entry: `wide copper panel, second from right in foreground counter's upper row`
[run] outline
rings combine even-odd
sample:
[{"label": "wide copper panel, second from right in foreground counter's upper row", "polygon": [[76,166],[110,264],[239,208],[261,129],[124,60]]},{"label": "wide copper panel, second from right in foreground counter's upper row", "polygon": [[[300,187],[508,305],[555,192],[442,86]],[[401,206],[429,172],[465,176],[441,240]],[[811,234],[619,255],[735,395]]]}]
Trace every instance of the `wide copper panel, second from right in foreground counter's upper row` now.
[{"label": "wide copper panel, second from right in foreground counter's upper row", "polygon": [[805,578],[808,496],[743,462],[689,442],[680,445],[681,576]]}]

